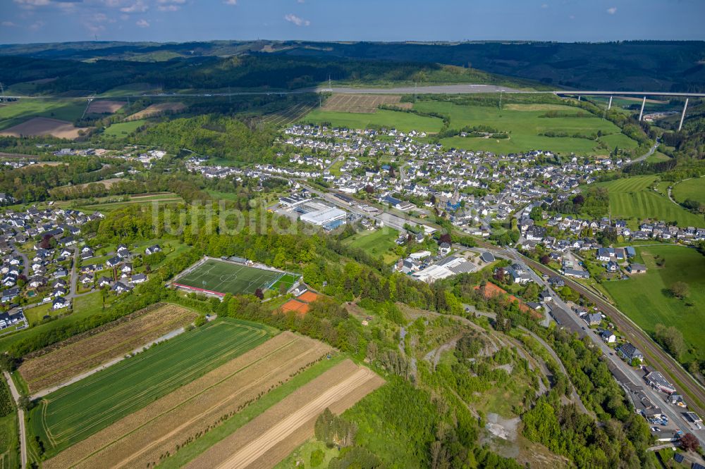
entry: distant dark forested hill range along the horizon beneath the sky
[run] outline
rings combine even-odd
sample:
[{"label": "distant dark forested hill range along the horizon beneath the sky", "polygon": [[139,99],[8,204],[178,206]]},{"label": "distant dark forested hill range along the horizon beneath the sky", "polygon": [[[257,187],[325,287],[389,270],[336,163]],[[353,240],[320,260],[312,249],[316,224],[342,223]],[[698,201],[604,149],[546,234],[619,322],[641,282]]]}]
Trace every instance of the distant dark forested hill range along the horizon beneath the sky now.
[{"label": "distant dark forested hill range along the horizon beneath the sky", "polygon": [[[182,44],[78,42],[68,44],[29,44],[0,46],[0,55],[32,56],[44,59],[106,59],[112,61],[173,61],[178,58],[238,56],[241,54],[286,55],[326,63],[348,65],[364,61],[458,65],[486,73],[537,80],[552,87],[650,91],[705,91],[705,42],[630,41],[590,43],[556,42],[298,42],[298,41],[216,41]],[[293,65],[289,63],[289,65]],[[310,65],[310,63],[309,63]],[[419,80],[424,75],[390,73],[403,65],[387,65],[382,70],[362,67],[361,80]],[[418,67],[417,67],[418,68]],[[369,72],[369,73],[367,73]],[[331,73],[307,73],[304,80],[315,82]],[[332,71],[334,79],[355,79],[353,73]],[[375,75],[376,74],[376,75]],[[447,79],[447,76],[429,77]],[[467,79],[468,77],[463,77]],[[486,82],[487,77],[471,77]],[[483,80],[484,79],[484,80]],[[421,80],[423,81],[423,80]],[[454,81],[454,80],[450,80]],[[288,80],[288,86],[301,82]],[[247,85],[245,85],[247,86]]]}]

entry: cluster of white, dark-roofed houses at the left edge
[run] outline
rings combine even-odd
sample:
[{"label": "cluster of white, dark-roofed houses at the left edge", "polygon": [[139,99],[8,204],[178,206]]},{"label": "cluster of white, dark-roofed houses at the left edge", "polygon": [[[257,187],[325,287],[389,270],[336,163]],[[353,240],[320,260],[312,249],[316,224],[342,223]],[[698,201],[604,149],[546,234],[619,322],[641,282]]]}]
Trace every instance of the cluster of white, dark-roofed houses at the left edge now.
[{"label": "cluster of white, dark-roofed houses at the left edge", "polygon": [[[0,330],[26,323],[23,308],[47,303],[55,311],[70,307],[72,299],[81,294],[79,288],[90,292],[105,287],[121,293],[147,280],[145,273],[133,270],[130,259],[135,254],[125,244],[117,246],[105,263],[92,262],[99,254],[85,244],[81,227],[102,218],[99,212],[85,214],[51,205],[0,215],[0,304],[4,311]],[[145,255],[159,251],[160,246],[149,246]],[[23,308],[19,307],[20,296],[27,300]]]}]

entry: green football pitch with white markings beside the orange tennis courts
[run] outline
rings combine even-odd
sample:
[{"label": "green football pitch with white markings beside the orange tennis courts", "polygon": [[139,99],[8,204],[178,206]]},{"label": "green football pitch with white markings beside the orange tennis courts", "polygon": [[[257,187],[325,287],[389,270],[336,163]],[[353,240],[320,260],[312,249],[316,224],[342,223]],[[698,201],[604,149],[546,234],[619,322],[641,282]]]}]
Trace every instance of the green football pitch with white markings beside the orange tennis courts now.
[{"label": "green football pitch with white markings beside the orange tennis courts", "polygon": [[191,272],[178,277],[172,284],[215,294],[254,294],[257,289],[262,289],[264,292],[274,288],[274,284],[283,275],[285,273],[276,270],[207,259]]}]

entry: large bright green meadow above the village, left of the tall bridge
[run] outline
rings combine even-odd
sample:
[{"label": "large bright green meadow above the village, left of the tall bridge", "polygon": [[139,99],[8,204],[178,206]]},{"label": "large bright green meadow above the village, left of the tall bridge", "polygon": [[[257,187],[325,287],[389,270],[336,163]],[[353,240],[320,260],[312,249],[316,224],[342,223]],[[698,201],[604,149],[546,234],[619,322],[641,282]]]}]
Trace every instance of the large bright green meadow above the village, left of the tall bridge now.
[{"label": "large bright green meadow above the village, left of the tall bridge", "polygon": [[[509,107],[511,106],[511,107]],[[579,155],[608,154],[614,149],[613,144],[601,144],[599,141],[576,137],[546,137],[543,132],[565,132],[568,135],[592,135],[601,132],[608,135],[621,135],[620,129],[608,120],[603,120],[571,106],[551,104],[550,108],[534,110],[537,104],[507,104],[501,111],[499,107],[461,106],[439,101],[419,101],[414,104],[418,111],[441,113],[450,117],[450,128],[460,129],[465,126],[487,125],[501,132],[510,132],[507,139],[451,137],[443,139],[443,145],[467,150],[496,151],[511,153],[546,149],[561,154]],[[542,117],[548,111],[585,117],[548,118]],[[623,137],[612,137],[623,140]],[[628,140],[628,139],[627,139]],[[635,142],[636,143],[636,142]],[[623,142],[623,146],[627,146]]]}]

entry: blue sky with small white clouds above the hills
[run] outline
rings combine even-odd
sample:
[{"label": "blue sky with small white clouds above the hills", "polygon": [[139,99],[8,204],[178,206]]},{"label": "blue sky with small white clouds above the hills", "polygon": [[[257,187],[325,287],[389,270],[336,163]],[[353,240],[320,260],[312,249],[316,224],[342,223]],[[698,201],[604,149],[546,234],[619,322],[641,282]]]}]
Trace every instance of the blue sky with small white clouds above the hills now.
[{"label": "blue sky with small white clouds above the hills", "polygon": [[0,43],[705,39],[705,0],[0,0]]}]

